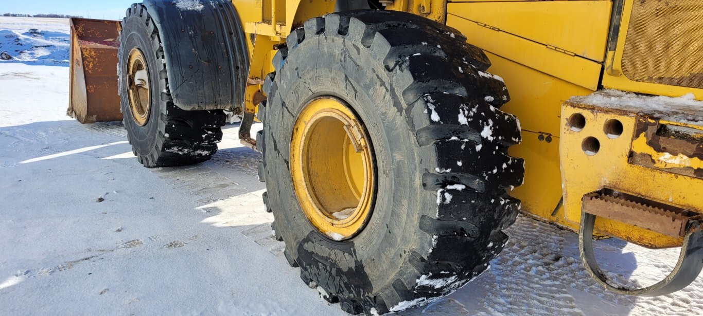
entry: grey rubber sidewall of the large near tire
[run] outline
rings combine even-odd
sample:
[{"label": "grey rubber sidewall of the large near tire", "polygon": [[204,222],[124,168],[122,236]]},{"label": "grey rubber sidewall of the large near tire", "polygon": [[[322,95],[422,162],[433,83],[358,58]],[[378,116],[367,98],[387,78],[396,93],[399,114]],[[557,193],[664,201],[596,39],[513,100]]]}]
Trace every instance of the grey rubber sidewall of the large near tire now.
[{"label": "grey rubber sidewall of the large near tire", "polygon": [[[294,258],[298,264],[314,272],[321,263],[312,253],[329,252],[339,255],[328,256],[335,267],[352,269],[345,272],[342,282],[349,282],[356,287],[367,287],[357,297],[384,291],[392,287],[399,271],[404,271],[411,251],[427,254],[432,247],[432,236],[418,230],[420,216],[430,211],[434,216],[436,195],[424,190],[422,174],[426,169],[415,136],[407,127],[407,122],[399,110],[394,107],[394,100],[401,99],[393,88],[383,82],[389,82],[382,63],[371,56],[367,50],[346,47],[342,39],[309,39],[300,44],[295,56],[286,62],[295,64],[295,70],[283,67],[276,74],[276,95],[269,96],[269,109],[266,119],[276,121],[267,126],[266,137],[273,138],[276,149],[267,148],[265,162],[269,190],[276,187],[278,194],[271,195],[272,208],[283,209],[287,228],[280,230],[287,244],[298,245]],[[310,58],[304,51],[318,51],[317,58]],[[318,71],[320,70],[324,71]],[[279,77],[280,76],[280,77]],[[332,87],[332,88],[330,88]],[[352,107],[363,124],[373,144],[377,166],[378,183],[375,192],[373,214],[366,228],[359,235],[345,242],[335,242],[321,235],[304,216],[299,202],[292,190],[292,177],[288,168],[290,157],[290,140],[297,114],[310,100],[319,96],[335,96]],[[276,100],[280,98],[280,102]],[[278,104],[282,106],[278,106]],[[268,141],[267,141],[268,142]],[[268,142],[271,143],[271,142]],[[275,183],[274,185],[271,185]],[[356,246],[359,245],[359,246]],[[323,249],[319,249],[322,247]],[[315,248],[312,250],[311,248]],[[349,266],[349,260],[354,266]],[[396,271],[389,270],[395,267]],[[311,277],[316,282],[321,282]],[[370,281],[370,282],[369,282]],[[338,287],[330,279],[328,289]],[[371,285],[369,289],[368,286]],[[354,287],[352,287],[354,288]]]}]

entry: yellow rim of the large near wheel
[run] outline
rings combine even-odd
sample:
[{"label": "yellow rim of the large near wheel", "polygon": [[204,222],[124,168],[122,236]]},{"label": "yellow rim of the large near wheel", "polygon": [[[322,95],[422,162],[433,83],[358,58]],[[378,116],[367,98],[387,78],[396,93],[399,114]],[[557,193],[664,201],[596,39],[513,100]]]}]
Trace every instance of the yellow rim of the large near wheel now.
[{"label": "yellow rim of the large near wheel", "polygon": [[305,105],[293,129],[290,172],[310,223],[334,240],[354,237],[370,218],[375,161],[366,129],[336,98]]}]

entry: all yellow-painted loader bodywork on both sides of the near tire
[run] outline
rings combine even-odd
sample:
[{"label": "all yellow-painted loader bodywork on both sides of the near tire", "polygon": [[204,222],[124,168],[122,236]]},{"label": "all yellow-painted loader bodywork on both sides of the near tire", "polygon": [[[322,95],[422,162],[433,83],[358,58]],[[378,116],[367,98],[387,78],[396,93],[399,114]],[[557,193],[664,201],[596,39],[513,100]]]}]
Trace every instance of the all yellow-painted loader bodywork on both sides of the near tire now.
[{"label": "all yellow-painted loader bodywork on both sides of the near tire", "polygon": [[[511,195],[522,200],[527,215],[579,230],[581,197],[603,187],[703,211],[700,178],[634,166],[626,159],[638,147],[637,113],[567,103],[602,88],[670,97],[692,93],[703,100],[703,70],[697,69],[703,42],[690,40],[703,37],[703,9],[696,1],[674,1],[679,7],[650,2],[395,0],[386,9],[445,22],[486,52],[493,64],[489,70],[503,77],[510,91],[503,110],[516,114],[522,127],[522,143],[510,154],[524,158],[525,178]],[[335,1],[235,0],[233,5],[252,54],[245,112],[255,113],[264,98],[264,77],[273,70],[275,46],[305,20],[333,12]],[[664,66],[651,66],[654,60]],[[565,130],[564,115],[578,109],[586,109],[592,124],[576,136]],[[616,117],[622,135],[604,138],[603,122]],[[586,134],[602,139],[602,150],[594,156],[583,154],[581,136]],[[678,246],[682,240],[607,218],[598,218],[595,229],[600,236],[653,248]]]}]

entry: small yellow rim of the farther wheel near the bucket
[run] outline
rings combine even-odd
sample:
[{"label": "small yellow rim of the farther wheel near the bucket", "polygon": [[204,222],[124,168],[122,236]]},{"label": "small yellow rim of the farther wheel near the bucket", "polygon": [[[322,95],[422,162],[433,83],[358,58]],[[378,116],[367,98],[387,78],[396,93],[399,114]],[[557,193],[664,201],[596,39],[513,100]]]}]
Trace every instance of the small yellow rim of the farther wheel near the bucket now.
[{"label": "small yellow rim of the farther wheel near the bucket", "polygon": [[144,55],[137,48],[129,52],[127,62],[127,96],[129,109],[134,121],[139,126],[144,126],[149,119],[151,105],[149,93],[149,69],[146,66]]}]

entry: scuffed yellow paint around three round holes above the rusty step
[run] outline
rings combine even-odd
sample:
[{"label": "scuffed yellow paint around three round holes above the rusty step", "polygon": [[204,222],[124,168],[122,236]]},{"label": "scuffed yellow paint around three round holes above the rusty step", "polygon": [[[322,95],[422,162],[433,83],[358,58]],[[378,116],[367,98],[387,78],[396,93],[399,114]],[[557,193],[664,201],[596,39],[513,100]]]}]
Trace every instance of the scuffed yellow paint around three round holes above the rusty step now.
[{"label": "scuffed yellow paint around three round holes above the rusty step", "polygon": [[[585,125],[582,129],[572,129],[569,117],[573,114],[583,115]],[[609,137],[604,131],[610,119],[617,119],[623,126],[623,132],[616,138]],[[642,135],[635,136],[636,121],[637,114],[634,112],[569,101],[562,105],[559,146],[566,220],[579,223],[581,198],[602,188],[681,209],[703,211],[703,195],[700,194],[703,192],[703,179],[629,163],[631,150],[637,152],[649,148],[646,152],[656,154],[654,157],[666,157],[665,153],[657,153],[646,145]],[[600,147],[595,154],[588,154],[583,149],[586,138],[598,140]],[[633,213],[633,216],[637,214]],[[595,230],[650,248],[681,246],[683,242],[681,238],[605,218],[596,220]]]}]

